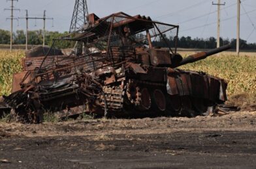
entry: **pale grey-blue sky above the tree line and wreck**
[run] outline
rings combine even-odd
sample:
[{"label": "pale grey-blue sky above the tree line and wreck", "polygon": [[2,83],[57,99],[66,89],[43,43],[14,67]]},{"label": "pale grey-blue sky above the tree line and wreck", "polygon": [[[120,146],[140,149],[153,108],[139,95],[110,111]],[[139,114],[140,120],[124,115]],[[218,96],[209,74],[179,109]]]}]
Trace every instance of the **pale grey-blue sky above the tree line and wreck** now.
[{"label": "pale grey-blue sky above the tree line and wreck", "polygon": [[[14,2],[16,8],[15,17],[25,17],[25,9],[29,16],[42,17],[46,10],[46,16],[54,18],[47,21],[46,28],[49,31],[69,31],[75,0],[19,0]],[[192,36],[193,38],[206,38],[217,34],[217,6],[212,5],[217,0],[88,0],[89,13],[95,13],[103,17],[114,12],[126,12],[127,14],[142,14],[150,16],[154,20],[180,25],[180,36]],[[256,1],[241,0],[241,38],[248,42],[256,42]],[[221,36],[223,38],[236,37],[236,0],[221,0],[225,6],[221,6]],[[0,0],[0,29],[10,29],[10,11],[4,8],[10,7],[10,1]],[[254,27],[253,27],[254,24]],[[29,29],[42,29],[42,21],[30,20]],[[14,21],[14,30],[25,29],[25,20]]]}]

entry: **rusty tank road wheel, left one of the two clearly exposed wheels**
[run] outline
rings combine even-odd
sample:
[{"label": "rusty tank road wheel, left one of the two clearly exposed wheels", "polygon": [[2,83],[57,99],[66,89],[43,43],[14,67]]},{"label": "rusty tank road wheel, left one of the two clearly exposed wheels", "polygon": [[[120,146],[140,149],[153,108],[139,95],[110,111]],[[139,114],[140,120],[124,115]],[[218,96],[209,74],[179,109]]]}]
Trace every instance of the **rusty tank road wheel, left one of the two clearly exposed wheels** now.
[{"label": "rusty tank road wheel, left one of the two clearly exposed wheels", "polygon": [[138,109],[143,111],[150,110],[151,105],[150,92],[148,92],[148,88],[143,88],[140,92],[140,104],[138,105]]}]

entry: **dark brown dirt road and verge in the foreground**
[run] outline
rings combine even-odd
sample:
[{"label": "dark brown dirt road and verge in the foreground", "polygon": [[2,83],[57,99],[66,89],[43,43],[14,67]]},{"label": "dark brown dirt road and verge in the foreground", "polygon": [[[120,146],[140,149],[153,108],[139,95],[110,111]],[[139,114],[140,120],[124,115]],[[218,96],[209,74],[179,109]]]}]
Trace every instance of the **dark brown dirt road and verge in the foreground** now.
[{"label": "dark brown dirt road and verge in the foreground", "polygon": [[256,112],[0,123],[0,168],[255,168]]}]

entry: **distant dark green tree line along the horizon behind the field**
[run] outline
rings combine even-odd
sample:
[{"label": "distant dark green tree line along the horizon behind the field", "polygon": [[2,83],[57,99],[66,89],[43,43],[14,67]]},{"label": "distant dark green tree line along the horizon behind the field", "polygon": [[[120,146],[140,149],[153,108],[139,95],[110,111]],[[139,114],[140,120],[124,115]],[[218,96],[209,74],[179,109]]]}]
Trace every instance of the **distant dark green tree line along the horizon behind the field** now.
[{"label": "distant dark green tree line along the horizon behind the field", "polygon": [[[45,44],[52,45],[54,38],[59,38],[65,36],[69,32],[57,32],[57,31],[46,31]],[[159,47],[174,47],[174,41],[176,37],[170,36],[167,37],[163,34],[166,40],[159,38],[158,40],[153,41],[153,45]],[[18,30],[14,32],[13,35],[14,44],[25,44],[25,32],[23,30]],[[217,40],[214,37],[210,38],[191,38],[191,36],[182,36],[178,38],[178,47],[180,48],[189,48],[189,49],[214,49],[216,48]],[[0,29],[0,44],[10,44],[10,32]],[[41,45],[42,44],[42,30],[38,31],[29,31],[28,32],[28,44],[29,45]],[[231,44],[232,49],[236,49],[236,39],[223,39],[220,38],[220,44],[226,45]],[[56,47],[59,49],[65,49],[68,47],[73,47],[74,42],[69,41],[59,41],[56,42]],[[256,43],[248,43],[246,40],[240,39],[240,49],[244,50],[255,50]]]}]

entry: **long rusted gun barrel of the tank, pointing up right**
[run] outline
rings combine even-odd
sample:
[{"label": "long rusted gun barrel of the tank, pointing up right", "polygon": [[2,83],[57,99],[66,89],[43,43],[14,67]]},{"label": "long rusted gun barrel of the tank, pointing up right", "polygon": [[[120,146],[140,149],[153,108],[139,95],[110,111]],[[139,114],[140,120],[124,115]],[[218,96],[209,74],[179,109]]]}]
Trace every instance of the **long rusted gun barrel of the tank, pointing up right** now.
[{"label": "long rusted gun barrel of the tank, pointing up right", "polygon": [[184,64],[189,64],[193,62],[197,62],[202,59],[206,59],[207,57],[214,55],[216,53],[220,53],[222,51],[227,51],[228,49],[231,49],[231,45],[224,45],[222,47],[216,48],[216,49],[211,49],[209,51],[202,51],[199,53],[195,53],[193,55],[190,55],[189,57],[184,58],[180,63],[178,63],[175,68],[182,66]]}]

